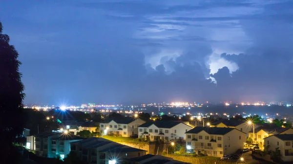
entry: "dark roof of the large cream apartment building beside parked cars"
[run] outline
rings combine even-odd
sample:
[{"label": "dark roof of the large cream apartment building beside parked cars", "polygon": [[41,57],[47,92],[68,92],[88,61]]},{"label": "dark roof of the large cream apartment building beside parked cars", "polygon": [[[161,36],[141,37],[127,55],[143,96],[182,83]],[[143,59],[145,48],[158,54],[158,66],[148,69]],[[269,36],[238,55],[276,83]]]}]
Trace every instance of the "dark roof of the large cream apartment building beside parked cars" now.
[{"label": "dark roof of the large cream apartment building beside parked cars", "polygon": [[186,133],[197,134],[197,133],[199,133],[199,132],[204,130],[208,134],[225,135],[225,134],[229,133],[230,131],[232,131],[234,129],[235,128],[195,127],[195,128],[192,128],[191,130],[187,131]]}]

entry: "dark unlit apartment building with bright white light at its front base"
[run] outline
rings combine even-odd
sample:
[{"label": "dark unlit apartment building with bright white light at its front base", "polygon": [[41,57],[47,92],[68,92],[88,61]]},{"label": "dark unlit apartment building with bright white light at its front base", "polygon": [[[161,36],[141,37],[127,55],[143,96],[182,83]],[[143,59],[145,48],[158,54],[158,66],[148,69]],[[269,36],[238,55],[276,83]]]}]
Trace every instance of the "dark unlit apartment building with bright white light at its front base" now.
[{"label": "dark unlit apartment building with bright white light at its front base", "polygon": [[121,145],[104,138],[88,138],[70,143],[82,161],[89,164],[118,164],[124,159],[146,155],[146,150]]}]

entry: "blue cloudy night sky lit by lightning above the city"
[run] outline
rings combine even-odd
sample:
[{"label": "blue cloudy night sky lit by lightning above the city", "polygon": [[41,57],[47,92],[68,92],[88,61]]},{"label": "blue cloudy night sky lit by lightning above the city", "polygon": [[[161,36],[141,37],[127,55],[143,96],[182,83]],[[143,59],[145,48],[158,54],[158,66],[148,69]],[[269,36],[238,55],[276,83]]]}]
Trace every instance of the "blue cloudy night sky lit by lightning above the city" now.
[{"label": "blue cloudy night sky lit by lightning above the city", "polygon": [[25,103],[293,100],[293,0],[1,0]]}]

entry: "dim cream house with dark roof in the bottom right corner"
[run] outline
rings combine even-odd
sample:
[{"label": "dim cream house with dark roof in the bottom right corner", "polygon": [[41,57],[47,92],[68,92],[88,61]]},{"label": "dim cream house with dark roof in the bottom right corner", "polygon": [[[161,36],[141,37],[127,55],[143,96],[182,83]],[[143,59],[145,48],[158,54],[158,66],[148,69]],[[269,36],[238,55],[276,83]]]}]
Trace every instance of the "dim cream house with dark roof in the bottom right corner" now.
[{"label": "dim cream house with dark roof in the bottom right corner", "polygon": [[268,150],[275,151],[279,148],[281,160],[293,162],[293,134],[275,134],[264,138],[265,146]]}]

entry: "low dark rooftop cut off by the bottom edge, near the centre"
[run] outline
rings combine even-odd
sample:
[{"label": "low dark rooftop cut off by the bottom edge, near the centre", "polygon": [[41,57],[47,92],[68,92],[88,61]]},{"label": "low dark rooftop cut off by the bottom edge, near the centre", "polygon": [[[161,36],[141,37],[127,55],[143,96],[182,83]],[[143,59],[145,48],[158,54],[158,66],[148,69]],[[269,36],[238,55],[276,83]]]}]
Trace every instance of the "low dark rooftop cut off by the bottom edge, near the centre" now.
[{"label": "low dark rooftop cut off by the bottom edge, near the centre", "polygon": [[181,161],[173,160],[172,158],[146,154],[141,157],[125,159],[125,164],[188,164]]}]

